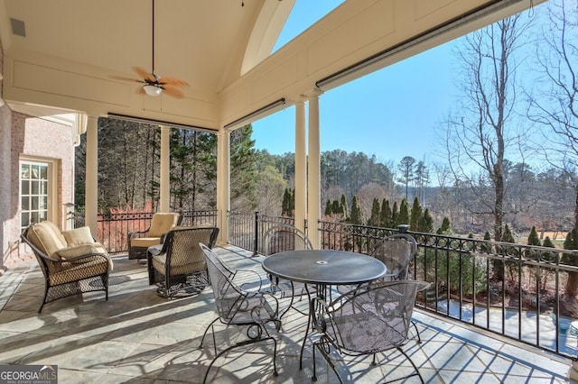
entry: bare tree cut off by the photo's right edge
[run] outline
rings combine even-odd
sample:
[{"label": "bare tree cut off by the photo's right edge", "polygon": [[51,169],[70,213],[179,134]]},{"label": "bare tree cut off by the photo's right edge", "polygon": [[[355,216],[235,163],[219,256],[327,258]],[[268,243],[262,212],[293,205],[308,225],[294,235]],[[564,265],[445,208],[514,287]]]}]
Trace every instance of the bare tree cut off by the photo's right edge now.
[{"label": "bare tree cut off by the photo's right edge", "polygon": [[[578,227],[578,8],[570,2],[548,5],[545,23],[537,45],[536,58],[541,76],[539,92],[528,92],[529,118],[548,127],[546,159],[564,172],[574,191],[574,228]],[[566,295],[578,295],[578,274],[569,273]]]}]

